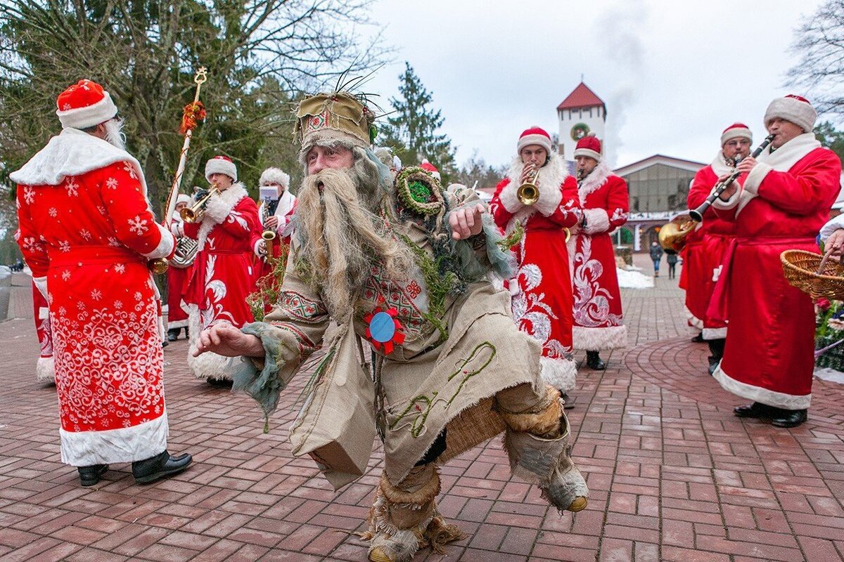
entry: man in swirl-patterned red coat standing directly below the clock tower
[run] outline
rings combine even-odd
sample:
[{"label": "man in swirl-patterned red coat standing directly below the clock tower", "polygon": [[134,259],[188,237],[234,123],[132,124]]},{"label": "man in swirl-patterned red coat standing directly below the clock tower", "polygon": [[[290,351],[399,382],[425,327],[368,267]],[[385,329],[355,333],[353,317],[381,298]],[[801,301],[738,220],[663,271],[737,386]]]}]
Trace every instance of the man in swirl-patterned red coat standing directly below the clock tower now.
[{"label": "man in swirl-patterned red coat standing directly below the clock tower", "polygon": [[627,222],[630,198],[624,179],[603,162],[601,141],[584,136],[575,147],[583,220],[569,239],[574,294],[575,349],[586,350],[587,367],[606,369],[600,350],[627,345],[621,321],[621,292],[609,233]]}]

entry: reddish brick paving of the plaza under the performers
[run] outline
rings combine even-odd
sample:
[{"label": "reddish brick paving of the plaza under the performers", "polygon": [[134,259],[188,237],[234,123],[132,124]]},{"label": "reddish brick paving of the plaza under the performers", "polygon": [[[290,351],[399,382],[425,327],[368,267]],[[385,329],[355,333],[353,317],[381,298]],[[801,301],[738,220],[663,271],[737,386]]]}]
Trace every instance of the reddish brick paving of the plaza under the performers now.
[{"label": "reddish brick paving of the plaza under the performers", "polygon": [[[192,452],[192,468],[142,487],[128,464],[115,465],[80,487],[59,460],[55,388],[35,382],[24,281],[16,277],[10,307],[19,318],[0,323],[0,559],[366,559],[355,533],[380,449],[364,478],[333,492],[310,459],[290,455],[286,428],[304,381],[264,435],[252,399],[190,375],[184,340],[165,350],[165,387],[170,452]],[[469,538],[414,562],[844,559],[841,387],[816,380],[809,421],[793,430],[735,418],[741,400],[706,375],[706,345],[685,335],[682,298],[664,277],[625,290],[630,348],[609,356],[607,371],[578,376],[568,414],[592,490],[585,511],[560,517],[510,479],[493,440],[442,468],[441,511]]]}]

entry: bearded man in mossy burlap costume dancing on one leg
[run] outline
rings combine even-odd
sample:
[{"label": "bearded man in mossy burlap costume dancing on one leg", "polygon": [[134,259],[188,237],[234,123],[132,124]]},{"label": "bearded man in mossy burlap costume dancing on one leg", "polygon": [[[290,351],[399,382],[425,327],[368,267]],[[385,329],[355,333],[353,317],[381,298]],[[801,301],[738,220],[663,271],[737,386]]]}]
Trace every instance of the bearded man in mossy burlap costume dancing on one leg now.
[{"label": "bearded man in mossy burlap costume dancing on one leg", "polygon": [[[489,281],[511,270],[483,204],[470,190],[441,190],[420,168],[393,183],[370,149],[374,115],[352,95],[312,96],[296,116],[306,179],[278,306],[262,323],[206,330],[197,352],[248,357],[235,388],[269,412],[329,320],[338,324],[290,438],[294,454],[311,454],[339,487],[363,473],[377,426],[385,469],[365,533],[371,560],[406,561],[462,538],[436,509],[436,465],[501,431],[514,474],[560,511],[583,509],[560,393],[542,382],[540,345],[518,331],[508,295]],[[374,389],[360,380],[358,344],[374,351]],[[342,404],[325,399],[332,384],[343,385]],[[352,409],[368,411],[370,434],[353,424],[309,446]],[[365,453],[357,474],[342,454],[355,448]]]}]

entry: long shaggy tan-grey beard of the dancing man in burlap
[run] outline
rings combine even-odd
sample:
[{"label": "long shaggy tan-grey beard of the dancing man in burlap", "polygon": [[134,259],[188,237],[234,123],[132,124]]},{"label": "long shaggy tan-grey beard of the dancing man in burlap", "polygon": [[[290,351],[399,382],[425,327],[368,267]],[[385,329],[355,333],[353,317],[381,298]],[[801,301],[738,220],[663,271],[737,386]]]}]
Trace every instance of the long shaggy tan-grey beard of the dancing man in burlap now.
[{"label": "long shaggy tan-grey beard of the dancing man in burlap", "polygon": [[410,250],[377,214],[381,203],[377,183],[360,177],[360,171],[355,166],[310,175],[297,202],[302,264],[311,286],[322,292],[329,313],[339,322],[354,312],[373,268],[403,281],[412,264]]}]

